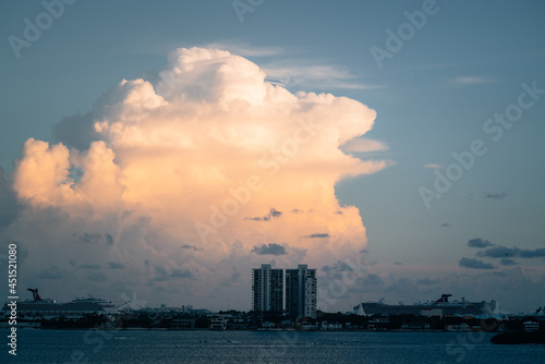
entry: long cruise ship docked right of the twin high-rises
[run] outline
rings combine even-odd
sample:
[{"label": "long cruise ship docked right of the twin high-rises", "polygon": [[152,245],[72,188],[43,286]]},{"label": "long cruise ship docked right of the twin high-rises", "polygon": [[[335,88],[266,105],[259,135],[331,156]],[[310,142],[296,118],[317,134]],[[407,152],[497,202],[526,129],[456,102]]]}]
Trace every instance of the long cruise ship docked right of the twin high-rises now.
[{"label": "long cruise ship docked right of the twin high-rises", "polygon": [[414,303],[404,305],[401,302],[397,305],[378,302],[362,302],[354,306],[354,313],[364,316],[373,315],[420,315],[420,316],[481,316],[493,315],[496,312],[496,301],[470,302],[462,298],[460,301],[449,302],[452,294],[441,294],[441,298],[425,303]]}]

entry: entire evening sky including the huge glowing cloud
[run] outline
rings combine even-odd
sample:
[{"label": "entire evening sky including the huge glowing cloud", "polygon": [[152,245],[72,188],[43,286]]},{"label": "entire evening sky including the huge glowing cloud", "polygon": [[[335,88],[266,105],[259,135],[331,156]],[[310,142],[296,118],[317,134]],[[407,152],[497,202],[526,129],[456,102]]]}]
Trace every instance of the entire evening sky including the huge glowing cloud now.
[{"label": "entire evening sky including the huge glowing cloud", "polygon": [[545,305],[543,2],[0,7],[22,298],[247,311],[307,264],[325,311]]}]

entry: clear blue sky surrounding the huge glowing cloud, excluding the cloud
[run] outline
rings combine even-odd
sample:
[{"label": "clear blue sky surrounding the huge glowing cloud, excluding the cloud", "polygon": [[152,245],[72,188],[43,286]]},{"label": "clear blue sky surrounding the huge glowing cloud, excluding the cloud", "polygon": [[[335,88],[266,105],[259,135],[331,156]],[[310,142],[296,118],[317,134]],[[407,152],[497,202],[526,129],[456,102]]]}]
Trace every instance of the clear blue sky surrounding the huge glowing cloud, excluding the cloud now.
[{"label": "clear blue sky surrounding the huge glowing cloud, excluding the cloud", "polygon": [[[233,3],[243,7],[239,14]],[[59,142],[53,125],[88,112],[121,80],[157,76],[169,51],[227,49],[292,93],[330,93],[376,110],[365,137],[387,148],[355,156],[391,166],[336,185],[341,206],[360,209],[368,238],[366,258],[372,275],[379,277],[378,286],[360,294],[390,302],[440,293],[470,300],[500,295],[496,299],[507,301],[510,311],[543,305],[543,293],[535,292],[545,288],[545,254],[538,251],[545,246],[545,95],[532,99],[526,88],[534,84],[545,89],[545,5],[462,0],[252,3],[76,1],[20,49],[19,58],[9,37],[24,38],[24,20],[35,24],[45,8],[39,1],[2,4],[0,166],[9,174],[29,137]],[[408,25],[405,12],[423,9],[429,14],[421,28]],[[401,49],[390,49],[390,58],[377,64],[373,47],[388,51],[387,31],[398,34],[400,26],[412,33]],[[495,133],[483,130],[487,119],[518,105],[524,92],[532,106],[494,141]],[[474,156],[474,166],[463,169],[427,208],[419,189],[433,191],[436,171],[447,173],[457,162],[452,153],[470,150],[475,139],[487,151]],[[507,252],[502,258],[511,260],[500,262],[486,247],[468,246],[473,239],[519,251]],[[521,250],[529,253],[521,255]],[[476,260],[463,257],[479,262],[470,267],[468,262]],[[396,290],[403,278],[414,284],[424,278],[440,282],[411,293]],[[464,286],[472,279],[482,283]],[[529,293],[529,300],[505,291]]]}]

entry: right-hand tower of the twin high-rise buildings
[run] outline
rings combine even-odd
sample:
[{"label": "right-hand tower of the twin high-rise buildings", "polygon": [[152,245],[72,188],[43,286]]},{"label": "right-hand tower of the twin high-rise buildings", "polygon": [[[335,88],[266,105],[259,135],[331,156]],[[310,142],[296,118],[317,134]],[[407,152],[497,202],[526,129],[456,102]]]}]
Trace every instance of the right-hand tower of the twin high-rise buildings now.
[{"label": "right-hand tower of the twin high-rise buildings", "polygon": [[306,264],[286,269],[286,312],[292,317],[316,317],[316,269]]}]

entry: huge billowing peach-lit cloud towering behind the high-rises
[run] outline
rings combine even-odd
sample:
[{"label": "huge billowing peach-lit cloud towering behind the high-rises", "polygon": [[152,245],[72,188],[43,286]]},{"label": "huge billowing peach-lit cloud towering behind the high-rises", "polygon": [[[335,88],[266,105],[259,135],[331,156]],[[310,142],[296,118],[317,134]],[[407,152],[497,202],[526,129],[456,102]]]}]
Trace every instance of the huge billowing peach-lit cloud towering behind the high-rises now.
[{"label": "huge billowing peach-lit cloud towering behind the high-rises", "polygon": [[24,208],[2,232],[28,251],[24,284],[60,299],[137,291],[249,308],[250,269],[272,257],[256,246],[281,242],[278,267],[320,268],[365,250],[359,210],[339,205],[335,185],[387,167],[340,149],[372,129],[375,111],[265,78],[228,51],[178,49],[158,82],[123,80],[60,123],[85,148],[65,134],[64,144],[29,138],[11,178]]}]

